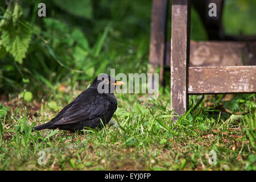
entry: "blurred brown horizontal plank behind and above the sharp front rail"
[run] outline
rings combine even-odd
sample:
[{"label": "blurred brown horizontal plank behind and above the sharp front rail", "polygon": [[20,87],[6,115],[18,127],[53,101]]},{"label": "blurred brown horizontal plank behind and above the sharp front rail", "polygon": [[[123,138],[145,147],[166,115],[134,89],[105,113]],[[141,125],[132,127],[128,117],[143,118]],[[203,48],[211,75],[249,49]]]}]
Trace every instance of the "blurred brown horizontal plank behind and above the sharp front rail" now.
[{"label": "blurred brown horizontal plank behind and above the sharp front rail", "polygon": [[[166,44],[167,49],[170,43]],[[191,67],[256,65],[256,42],[194,42],[190,44]],[[243,56],[242,56],[243,55]],[[170,52],[166,52],[170,60]],[[170,66],[170,61],[166,61]]]}]

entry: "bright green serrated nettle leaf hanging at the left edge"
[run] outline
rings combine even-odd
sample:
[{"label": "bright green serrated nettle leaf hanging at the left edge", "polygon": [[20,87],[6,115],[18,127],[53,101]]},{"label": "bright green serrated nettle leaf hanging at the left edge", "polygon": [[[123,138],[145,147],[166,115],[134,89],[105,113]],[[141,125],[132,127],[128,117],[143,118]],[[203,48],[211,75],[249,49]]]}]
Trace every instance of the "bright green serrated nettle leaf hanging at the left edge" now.
[{"label": "bright green serrated nettle leaf hanging at the left edge", "polygon": [[22,24],[17,24],[15,27],[12,21],[10,21],[10,23],[3,28],[1,39],[2,45],[6,48],[6,51],[13,55],[15,61],[22,64],[22,59],[26,56],[25,53],[30,44],[31,31]]}]

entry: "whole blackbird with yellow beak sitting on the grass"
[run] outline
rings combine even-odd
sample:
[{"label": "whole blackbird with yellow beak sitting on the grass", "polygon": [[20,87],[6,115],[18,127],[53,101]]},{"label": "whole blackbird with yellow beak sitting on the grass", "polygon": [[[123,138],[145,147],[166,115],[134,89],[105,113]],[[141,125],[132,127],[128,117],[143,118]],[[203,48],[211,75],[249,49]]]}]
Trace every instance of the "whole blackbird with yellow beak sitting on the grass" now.
[{"label": "whole blackbird with yellow beak sitting on the grass", "polygon": [[117,109],[114,90],[115,86],[122,84],[125,83],[105,73],[97,76],[92,85],[65,106],[55,118],[48,123],[36,126],[34,130],[80,131],[84,127],[102,129],[109,123]]}]

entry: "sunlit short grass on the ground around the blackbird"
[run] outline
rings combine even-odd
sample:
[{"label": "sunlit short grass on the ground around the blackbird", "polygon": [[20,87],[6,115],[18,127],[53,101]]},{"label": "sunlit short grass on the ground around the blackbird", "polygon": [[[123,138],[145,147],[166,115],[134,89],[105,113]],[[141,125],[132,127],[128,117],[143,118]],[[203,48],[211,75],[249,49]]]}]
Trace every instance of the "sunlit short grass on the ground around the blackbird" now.
[{"label": "sunlit short grass on the ground around the blackbird", "polygon": [[[75,95],[79,94],[75,90]],[[66,97],[64,97],[66,96]],[[73,100],[58,92],[42,102],[2,102],[1,170],[255,170],[255,94],[191,96],[188,113],[172,120],[168,89],[157,100],[116,94],[118,109],[102,130],[84,133],[32,127]],[[62,99],[60,99],[62,98]],[[50,107],[51,106],[51,107]],[[20,134],[20,130],[25,130]],[[215,165],[209,152],[216,152]],[[40,165],[42,153],[46,164]]]}]

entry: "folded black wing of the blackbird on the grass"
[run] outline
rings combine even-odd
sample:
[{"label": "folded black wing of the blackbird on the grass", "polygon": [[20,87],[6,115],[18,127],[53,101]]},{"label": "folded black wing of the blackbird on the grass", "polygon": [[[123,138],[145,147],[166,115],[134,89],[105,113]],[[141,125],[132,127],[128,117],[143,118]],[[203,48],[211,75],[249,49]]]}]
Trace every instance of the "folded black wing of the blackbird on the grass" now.
[{"label": "folded black wing of the blackbird on the grass", "polygon": [[[89,96],[88,96],[89,95]],[[112,102],[104,95],[86,95],[73,102],[61,113],[63,117],[54,122],[54,125],[67,125],[104,116],[112,109]]]}]

